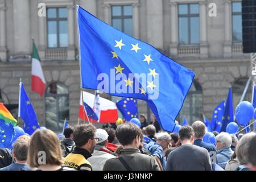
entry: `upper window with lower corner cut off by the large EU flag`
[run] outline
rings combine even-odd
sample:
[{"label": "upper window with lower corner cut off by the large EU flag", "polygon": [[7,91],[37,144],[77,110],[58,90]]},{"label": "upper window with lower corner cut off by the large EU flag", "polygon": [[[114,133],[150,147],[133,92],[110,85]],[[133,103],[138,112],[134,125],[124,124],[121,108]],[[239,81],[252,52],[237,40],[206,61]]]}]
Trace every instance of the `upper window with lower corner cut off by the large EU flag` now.
[{"label": "upper window with lower corner cut off by the large EU flag", "polygon": [[112,6],[112,26],[125,34],[133,36],[132,6]]}]

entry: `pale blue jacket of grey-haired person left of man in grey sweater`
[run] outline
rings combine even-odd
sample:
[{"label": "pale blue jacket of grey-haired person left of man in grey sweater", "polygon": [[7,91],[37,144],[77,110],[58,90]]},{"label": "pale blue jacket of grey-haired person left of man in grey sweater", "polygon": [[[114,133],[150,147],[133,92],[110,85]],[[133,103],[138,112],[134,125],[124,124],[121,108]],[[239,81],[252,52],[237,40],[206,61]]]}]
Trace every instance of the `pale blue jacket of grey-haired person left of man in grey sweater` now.
[{"label": "pale blue jacket of grey-haired person left of man in grey sweater", "polygon": [[159,158],[160,163],[163,167],[163,170],[166,170],[166,158],[164,158],[164,153],[163,153],[163,147],[160,146],[160,144],[156,142],[150,142],[146,145],[145,147],[147,150],[150,151],[152,156],[156,156]]}]

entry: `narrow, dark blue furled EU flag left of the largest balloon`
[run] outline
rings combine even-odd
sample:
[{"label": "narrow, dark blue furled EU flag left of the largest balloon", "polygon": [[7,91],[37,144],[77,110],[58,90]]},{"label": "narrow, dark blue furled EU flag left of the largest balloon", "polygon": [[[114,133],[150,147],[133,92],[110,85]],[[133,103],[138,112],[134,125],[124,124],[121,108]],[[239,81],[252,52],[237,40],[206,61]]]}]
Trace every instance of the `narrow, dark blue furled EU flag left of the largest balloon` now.
[{"label": "narrow, dark blue furled EU flag left of the largest balloon", "polygon": [[234,121],[234,112],[233,112],[233,101],[232,101],[232,91],[231,86],[229,88],[228,97],[226,98],[225,109],[222,117],[222,126],[221,131],[226,132],[226,126],[228,123]]}]

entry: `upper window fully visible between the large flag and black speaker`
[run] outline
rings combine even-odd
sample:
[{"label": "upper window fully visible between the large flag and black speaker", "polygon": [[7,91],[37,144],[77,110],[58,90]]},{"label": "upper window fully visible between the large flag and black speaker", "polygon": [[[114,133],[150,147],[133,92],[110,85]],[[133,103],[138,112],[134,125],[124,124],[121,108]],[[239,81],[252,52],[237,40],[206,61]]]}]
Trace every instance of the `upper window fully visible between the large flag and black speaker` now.
[{"label": "upper window fully visible between the large flag and black speaker", "polygon": [[199,44],[199,4],[178,6],[179,44]]}]

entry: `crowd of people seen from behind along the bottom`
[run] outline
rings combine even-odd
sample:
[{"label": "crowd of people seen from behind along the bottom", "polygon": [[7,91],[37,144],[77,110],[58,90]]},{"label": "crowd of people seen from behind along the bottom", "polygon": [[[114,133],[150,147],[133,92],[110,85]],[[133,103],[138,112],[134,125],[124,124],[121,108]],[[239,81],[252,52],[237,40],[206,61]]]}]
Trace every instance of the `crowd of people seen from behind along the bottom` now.
[{"label": "crowd of people seen from behind along the bottom", "polygon": [[[0,171],[249,171],[256,170],[256,133],[214,133],[203,141],[205,125],[195,121],[179,134],[162,131],[154,118],[97,129],[68,126],[64,138],[49,129],[20,136],[13,152],[0,148]],[[157,124],[158,123],[158,124]],[[147,138],[147,140],[145,140]]]}]

